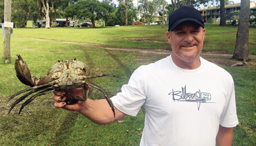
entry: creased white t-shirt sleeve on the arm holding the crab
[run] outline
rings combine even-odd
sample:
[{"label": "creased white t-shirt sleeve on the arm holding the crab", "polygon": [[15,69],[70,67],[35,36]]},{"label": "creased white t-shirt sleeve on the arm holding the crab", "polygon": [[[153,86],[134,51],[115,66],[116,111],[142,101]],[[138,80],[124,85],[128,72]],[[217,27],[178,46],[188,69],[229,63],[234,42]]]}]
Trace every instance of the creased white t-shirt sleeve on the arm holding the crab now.
[{"label": "creased white t-shirt sleeve on the arm holding the crab", "polygon": [[128,84],[122,86],[122,91],[111,97],[111,101],[119,111],[136,116],[146,101],[144,87],[143,70],[139,67],[131,75]]}]

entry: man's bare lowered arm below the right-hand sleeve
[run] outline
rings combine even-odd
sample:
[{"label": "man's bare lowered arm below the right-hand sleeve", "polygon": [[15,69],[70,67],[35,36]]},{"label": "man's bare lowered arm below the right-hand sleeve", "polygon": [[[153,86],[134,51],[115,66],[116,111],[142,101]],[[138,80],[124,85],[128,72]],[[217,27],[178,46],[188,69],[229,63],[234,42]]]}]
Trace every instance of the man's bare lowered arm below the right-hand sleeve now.
[{"label": "man's bare lowered arm below the right-hand sleeve", "polygon": [[219,126],[219,132],[216,136],[216,143],[218,146],[231,146],[233,141],[233,127]]}]

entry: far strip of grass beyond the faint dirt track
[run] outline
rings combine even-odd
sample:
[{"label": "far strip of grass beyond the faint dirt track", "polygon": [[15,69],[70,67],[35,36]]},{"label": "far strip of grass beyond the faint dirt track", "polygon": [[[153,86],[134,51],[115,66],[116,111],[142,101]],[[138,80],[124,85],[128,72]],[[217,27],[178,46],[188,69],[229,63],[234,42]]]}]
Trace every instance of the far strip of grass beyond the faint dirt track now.
[{"label": "far strip of grass beyond the faint dirt track", "polygon": [[[203,51],[222,51],[233,53],[236,44],[235,27],[220,27],[217,23],[205,23],[206,36]],[[110,47],[139,49],[170,49],[166,38],[167,25],[120,26],[102,28],[17,28],[13,35],[17,37],[45,38],[58,41],[76,41],[104,44]],[[256,29],[249,28],[249,50],[256,54]],[[134,40],[137,38],[136,40]],[[145,38],[148,41],[143,41]],[[139,40],[138,40],[139,39]],[[156,43],[157,41],[158,43]]]}]

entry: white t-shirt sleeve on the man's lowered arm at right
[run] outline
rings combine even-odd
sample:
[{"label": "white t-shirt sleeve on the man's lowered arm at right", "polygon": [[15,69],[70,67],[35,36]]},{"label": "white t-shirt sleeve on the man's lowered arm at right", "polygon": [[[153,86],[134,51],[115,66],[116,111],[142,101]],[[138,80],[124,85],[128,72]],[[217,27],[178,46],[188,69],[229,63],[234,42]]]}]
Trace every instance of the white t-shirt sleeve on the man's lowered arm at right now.
[{"label": "white t-shirt sleeve on the man's lowered arm at right", "polygon": [[220,125],[223,127],[236,127],[239,124],[237,119],[237,110],[236,110],[236,97],[234,90],[234,81],[230,75],[228,92],[226,94],[225,107],[223,112],[220,115]]}]

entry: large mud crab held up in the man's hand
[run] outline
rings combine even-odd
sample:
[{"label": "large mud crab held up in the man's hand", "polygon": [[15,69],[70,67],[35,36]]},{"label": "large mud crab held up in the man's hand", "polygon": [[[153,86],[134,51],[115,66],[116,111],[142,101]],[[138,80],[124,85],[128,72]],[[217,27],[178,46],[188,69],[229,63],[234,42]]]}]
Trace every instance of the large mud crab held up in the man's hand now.
[{"label": "large mud crab held up in the man's hand", "polygon": [[66,61],[56,62],[55,65],[49,68],[49,71],[46,76],[42,76],[40,79],[37,79],[35,76],[31,77],[30,70],[28,69],[26,62],[23,61],[22,57],[19,54],[17,54],[16,56],[14,66],[16,70],[16,76],[20,80],[20,82],[22,82],[25,85],[29,85],[31,88],[21,90],[13,94],[13,96],[11,96],[8,99],[9,102],[11,99],[13,99],[13,97],[29,91],[13,103],[8,114],[10,114],[14,106],[16,106],[19,102],[21,102],[23,99],[25,99],[33,93],[36,94],[31,96],[30,99],[28,99],[22,104],[19,114],[24,108],[24,106],[28,105],[28,103],[32,102],[36,97],[42,96],[43,94],[54,92],[55,90],[69,90],[73,88],[82,87],[84,98],[72,96],[70,98],[67,97],[66,103],[68,105],[72,105],[78,102],[79,100],[84,101],[87,99],[87,91],[85,85],[90,85],[90,87],[96,88],[104,94],[105,99],[110,105],[115,117],[113,104],[111,100],[108,98],[108,94],[105,92],[105,90],[99,87],[98,85],[93,84],[92,82],[86,81],[86,79],[98,78],[102,76],[111,76],[122,79],[119,75],[115,75],[112,73],[104,73],[101,75],[89,76],[90,70],[86,64],[76,59],[70,59]]}]

